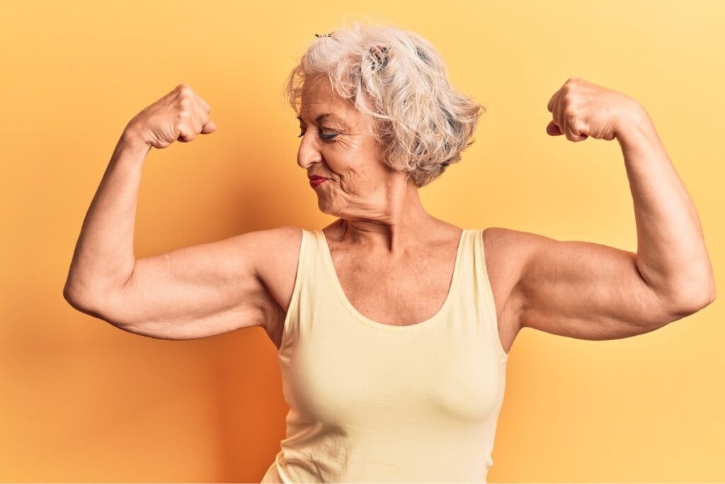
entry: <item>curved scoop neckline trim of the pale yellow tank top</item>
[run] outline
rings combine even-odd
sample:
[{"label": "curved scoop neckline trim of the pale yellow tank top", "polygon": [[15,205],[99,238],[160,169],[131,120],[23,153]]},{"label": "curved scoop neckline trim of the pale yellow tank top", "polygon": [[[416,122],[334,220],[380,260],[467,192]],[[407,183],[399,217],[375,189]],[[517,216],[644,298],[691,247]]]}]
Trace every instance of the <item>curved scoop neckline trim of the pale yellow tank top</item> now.
[{"label": "curved scoop neckline trim of the pale yellow tank top", "polygon": [[378,321],[373,321],[373,319],[368,318],[368,316],[365,316],[363,313],[360,313],[360,311],[357,311],[354,305],[350,303],[349,299],[347,298],[347,295],[345,294],[345,291],[342,289],[342,284],[340,284],[340,279],[337,276],[337,271],[335,270],[335,264],[332,261],[332,253],[330,252],[330,246],[327,243],[327,237],[325,236],[325,232],[322,230],[315,231],[315,235],[318,237],[318,239],[321,240],[321,245],[323,246],[323,260],[325,262],[325,266],[328,270],[328,274],[330,276],[330,279],[332,281],[332,284],[335,288],[335,292],[337,292],[337,296],[344,305],[344,307],[347,309],[347,311],[355,317],[358,321],[362,322],[363,324],[368,325],[369,327],[373,327],[376,329],[382,329],[384,331],[389,332],[406,332],[406,331],[415,331],[417,329],[420,329],[421,327],[428,327],[431,324],[433,324],[437,319],[440,319],[444,313],[447,311],[448,307],[451,305],[451,302],[453,300],[453,295],[456,292],[457,289],[457,282],[458,282],[458,272],[460,267],[460,259],[461,259],[461,253],[463,252],[463,240],[465,239],[465,235],[467,232],[470,231],[470,229],[461,229],[460,238],[458,239],[458,248],[456,250],[455,255],[455,263],[453,266],[453,274],[451,276],[451,283],[450,287],[448,287],[448,293],[446,295],[445,300],[443,301],[443,305],[439,308],[436,313],[431,316],[428,319],[425,319],[423,321],[419,321],[418,323],[413,324],[405,324],[404,326],[398,326],[394,324],[385,324]]}]

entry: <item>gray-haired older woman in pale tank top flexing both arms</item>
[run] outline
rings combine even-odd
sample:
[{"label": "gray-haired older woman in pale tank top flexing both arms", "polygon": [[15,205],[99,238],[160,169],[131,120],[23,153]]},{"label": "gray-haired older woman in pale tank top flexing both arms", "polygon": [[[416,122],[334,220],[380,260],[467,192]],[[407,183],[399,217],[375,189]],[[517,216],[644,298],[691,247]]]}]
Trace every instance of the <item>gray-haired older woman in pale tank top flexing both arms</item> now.
[{"label": "gray-haired older woman in pale tank top flexing both arms", "polygon": [[290,406],[263,482],[485,482],[521,328],[612,340],[715,298],[695,207],[647,112],[624,94],[569,79],[550,99],[547,133],[619,142],[637,253],[429,215],[418,189],[460,160],[483,108],[414,33],[353,25],[318,36],[289,96],[297,163],[336,221],[137,260],[149,151],[215,131],[210,105],[181,85],[120,136],[64,291],[80,311],[149,337],[263,327]]}]

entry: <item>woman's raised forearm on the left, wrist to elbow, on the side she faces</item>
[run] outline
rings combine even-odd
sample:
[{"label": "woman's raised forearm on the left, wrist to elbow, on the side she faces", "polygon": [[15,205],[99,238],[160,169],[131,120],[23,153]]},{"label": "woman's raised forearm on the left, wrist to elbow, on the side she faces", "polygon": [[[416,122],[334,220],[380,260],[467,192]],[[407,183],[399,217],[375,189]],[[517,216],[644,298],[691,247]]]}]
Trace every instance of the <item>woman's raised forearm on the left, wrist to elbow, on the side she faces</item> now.
[{"label": "woman's raised forearm on the left, wrist to elbow, on the side she faces", "polygon": [[69,302],[100,303],[133,272],[138,187],[149,149],[126,131],[118,140],[75,245],[64,289]]}]

